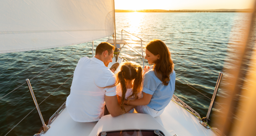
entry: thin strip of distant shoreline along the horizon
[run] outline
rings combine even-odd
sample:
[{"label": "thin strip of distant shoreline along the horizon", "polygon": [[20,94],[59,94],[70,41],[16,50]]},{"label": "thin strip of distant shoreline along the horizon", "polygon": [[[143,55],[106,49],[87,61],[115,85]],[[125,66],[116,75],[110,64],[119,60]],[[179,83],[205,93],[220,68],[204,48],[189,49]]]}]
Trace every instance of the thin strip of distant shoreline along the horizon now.
[{"label": "thin strip of distant shoreline along the horizon", "polygon": [[115,12],[244,12],[252,13],[253,9],[218,9],[218,10],[115,10]]}]

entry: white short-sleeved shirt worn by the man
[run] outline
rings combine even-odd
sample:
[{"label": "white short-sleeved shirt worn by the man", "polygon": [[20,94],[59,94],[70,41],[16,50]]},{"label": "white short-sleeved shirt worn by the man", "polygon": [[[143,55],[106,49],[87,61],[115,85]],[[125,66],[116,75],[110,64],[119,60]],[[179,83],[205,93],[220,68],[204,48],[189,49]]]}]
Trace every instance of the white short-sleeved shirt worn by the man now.
[{"label": "white short-sleeved shirt worn by the man", "polygon": [[71,118],[76,122],[98,121],[104,114],[105,95],[117,95],[113,85],[115,74],[97,58],[81,58],[74,71],[71,91],[66,106]]}]

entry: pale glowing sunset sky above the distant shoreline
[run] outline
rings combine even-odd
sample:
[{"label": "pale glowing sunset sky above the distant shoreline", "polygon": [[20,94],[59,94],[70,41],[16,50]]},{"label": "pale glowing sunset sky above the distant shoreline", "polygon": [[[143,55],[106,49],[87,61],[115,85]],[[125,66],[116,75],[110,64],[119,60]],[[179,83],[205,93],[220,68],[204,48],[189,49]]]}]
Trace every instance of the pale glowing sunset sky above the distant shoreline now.
[{"label": "pale glowing sunset sky above the distant shoreline", "polygon": [[254,0],[115,0],[116,10],[216,10],[253,8]]}]

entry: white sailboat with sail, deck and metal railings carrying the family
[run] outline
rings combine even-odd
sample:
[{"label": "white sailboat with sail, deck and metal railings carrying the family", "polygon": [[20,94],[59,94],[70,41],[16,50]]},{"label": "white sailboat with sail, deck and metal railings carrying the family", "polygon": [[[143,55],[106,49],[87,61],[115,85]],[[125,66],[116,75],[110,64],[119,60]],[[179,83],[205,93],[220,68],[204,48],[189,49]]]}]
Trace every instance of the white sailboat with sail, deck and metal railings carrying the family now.
[{"label": "white sailboat with sail, deck and metal railings carrying the family", "polygon": [[[0,53],[42,50],[92,41],[94,56],[93,41],[113,37],[113,40],[108,38],[106,41],[116,47],[113,62],[108,65],[110,68],[115,62],[121,66],[128,61],[120,55],[125,54],[122,52],[124,46],[130,46],[123,40],[123,32],[126,32],[141,41],[141,53],[130,47],[141,56],[144,67],[143,39],[126,30],[121,31],[121,39],[116,37],[114,0],[3,0],[0,7]],[[118,71],[119,67],[116,73]],[[164,112],[155,118],[147,114],[129,113],[118,117],[105,115],[97,122],[75,122],[64,102],[56,109],[48,124],[44,122],[27,79],[40,117],[38,119],[43,126],[41,133],[34,136],[218,136],[221,132],[207,123],[222,75],[220,72],[205,118],[173,95]]]}]

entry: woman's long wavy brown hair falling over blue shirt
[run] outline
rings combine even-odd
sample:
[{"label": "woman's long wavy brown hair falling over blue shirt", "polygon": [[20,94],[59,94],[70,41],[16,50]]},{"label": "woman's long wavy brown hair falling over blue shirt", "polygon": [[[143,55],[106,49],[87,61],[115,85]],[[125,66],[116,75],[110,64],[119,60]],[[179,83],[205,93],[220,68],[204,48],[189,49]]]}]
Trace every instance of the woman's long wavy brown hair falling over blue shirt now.
[{"label": "woman's long wavy brown hair falling over blue shirt", "polygon": [[146,49],[154,55],[159,54],[159,59],[154,63],[153,69],[162,84],[168,85],[174,64],[167,46],[161,40],[154,39],[148,43]]}]

